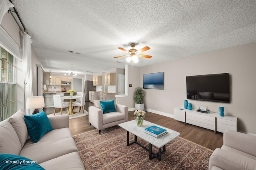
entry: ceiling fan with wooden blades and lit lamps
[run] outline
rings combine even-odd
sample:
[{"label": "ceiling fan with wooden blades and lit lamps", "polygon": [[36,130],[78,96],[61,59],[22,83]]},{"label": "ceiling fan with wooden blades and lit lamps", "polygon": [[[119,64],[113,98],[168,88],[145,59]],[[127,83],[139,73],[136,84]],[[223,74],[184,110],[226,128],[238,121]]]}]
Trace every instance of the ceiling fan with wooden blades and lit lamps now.
[{"label": "ceiling fan with wooden blades and lit lamps", "polygon": [[[127,57],[127,56],[130,56],[130,57],[128,58],[128,60],[134,61],[134,57],[136,57],[136,56],[138,56],[138,57],[144,57],[144,58],[148,58],[148,59],[150,59],[150,58],[152,57],[152,55],[138,54],[138,53],[141,53],[141,52],[143,52],[143,51],[149,50],[150,48],[149,48],[148,46],[143,47],[143,48],[140,49],[140,50],[136,50],[136,49],[134,49],[135,43],[131,43],[131,47],[132,47],[132,49],[130,49],[130,50],[128,50],[128,51],[127,51],[126,49],[122,48],[122,47],[118,47],[118,49],[127,52],[129,55],[122,55],[122,56],[118,56],[118,57],[114,57],[114,58],[120,58],[120,57]],[[138,60],[138,59],[137,59],[137,60]],[[137,62],[138,62],[138,61],[137,61]],[[136,62],[136,63],[137,63],[137,62]],[[134,61],[134,63],[135,63],[135,61]]]}]

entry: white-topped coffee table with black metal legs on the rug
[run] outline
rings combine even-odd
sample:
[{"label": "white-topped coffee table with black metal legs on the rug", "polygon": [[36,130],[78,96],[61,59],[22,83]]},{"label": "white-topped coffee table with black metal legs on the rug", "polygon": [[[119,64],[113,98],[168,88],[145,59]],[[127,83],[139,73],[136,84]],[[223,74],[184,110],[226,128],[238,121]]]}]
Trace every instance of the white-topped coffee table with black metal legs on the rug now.
[{"label": "white-topped coffee table with black metal legs on the rug", "polygon": [[[163,135],[159,138],[156,138],[156,137],[153,137],[153,136],[144,132],[145,128],[153,126],[153,125],[161,127],[163,129],[166,129],[167,134]],[[127,146],[132,145],[134,143],[137,143],[142,148],[148,150],[150,160],[152,160],[153,158],[158,158],[158,160],[162,160],[161,154],[162,154],[162,152],[165,151],[165,145],[180,135],[179,132],[176,132],[172,129],[168,129],[168,128],[160,126],[160,125],[156,125],[154,123],[151,123],[151,122],[145,121],[145,120],[143,122],[142,127],[137,126],[136,120],[120,123],[119,126],[127,131]],[[130,143],[129,133],[134,134],[134,141],[132,141],[132,143]],[[144,141],[147,141],[148,142],[148,148],[146,148],[143,145],[141,145],[140,143],[138,143],[137,137],[140,137]],[[158,153],[152,152],[152,145],[158,147],[158,149],[159,149]],[[163,150],[162,150],[162,147],[163,147]]]}]

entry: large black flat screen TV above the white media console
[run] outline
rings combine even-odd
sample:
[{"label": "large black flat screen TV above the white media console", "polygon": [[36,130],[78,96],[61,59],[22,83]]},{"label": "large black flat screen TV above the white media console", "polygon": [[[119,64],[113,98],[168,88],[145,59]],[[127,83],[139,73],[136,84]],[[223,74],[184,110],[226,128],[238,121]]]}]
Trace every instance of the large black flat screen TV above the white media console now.
[{"label": "large black flat screen TV above the white media console", "polygon": [[229,73],[187,76],[187,99],[230,103]]}]

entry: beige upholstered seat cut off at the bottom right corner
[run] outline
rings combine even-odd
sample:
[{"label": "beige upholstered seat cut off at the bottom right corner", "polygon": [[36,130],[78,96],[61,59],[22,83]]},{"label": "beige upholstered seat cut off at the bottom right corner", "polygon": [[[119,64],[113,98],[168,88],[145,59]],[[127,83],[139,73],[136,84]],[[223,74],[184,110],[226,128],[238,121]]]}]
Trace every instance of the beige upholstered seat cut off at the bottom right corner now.
[{"label": "beige upholstered seat cut off at the bottom right corner", "polygon": [[226,130],[221,149],[210,156],[209,170],[256,170],[256,136]]}]

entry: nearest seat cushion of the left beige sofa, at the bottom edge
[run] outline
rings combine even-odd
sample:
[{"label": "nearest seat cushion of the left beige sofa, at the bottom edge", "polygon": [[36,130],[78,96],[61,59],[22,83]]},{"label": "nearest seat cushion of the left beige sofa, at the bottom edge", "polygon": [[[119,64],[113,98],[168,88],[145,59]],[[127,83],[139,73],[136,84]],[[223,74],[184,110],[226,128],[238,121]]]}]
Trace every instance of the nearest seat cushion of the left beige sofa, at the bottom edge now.
[{"label": "nearest seat cushion of the left beige sofa, at the bottom edge", "polygon": [[84,166],[78,152],[64,154],[43,162],[40,166],[46,170],[84,170]]}]

